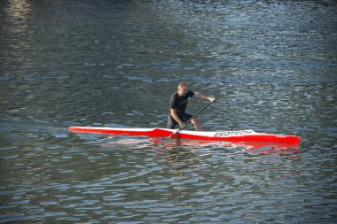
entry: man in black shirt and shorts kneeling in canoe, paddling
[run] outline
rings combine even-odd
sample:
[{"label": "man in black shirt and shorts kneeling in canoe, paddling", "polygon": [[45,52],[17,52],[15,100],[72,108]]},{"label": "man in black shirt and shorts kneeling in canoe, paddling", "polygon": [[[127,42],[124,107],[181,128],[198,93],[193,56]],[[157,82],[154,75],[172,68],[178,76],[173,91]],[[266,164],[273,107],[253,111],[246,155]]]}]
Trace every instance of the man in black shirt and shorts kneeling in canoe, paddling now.
[{"label": "man in black shirt and shorts kneeling in canoe, paddling", "polygon": [[[179,124],[180,127],[184,128],[186,126],[186,121],[192,118],[191,114],[185,113],[189,97],[195,97],[197,99],[207,99],[211,102],[214,102],[216,100],[215,97],[206,97],[196,94],[192,90],[188,89],[188,85],[186,82],[180,82],[177,92],[172,94],[169,101],[168,128],[174,129],[177,124]],[[195,130],[202,131],[202,126],[197,118],[193,118],[191,120],[191,123],[194,125]]]}]

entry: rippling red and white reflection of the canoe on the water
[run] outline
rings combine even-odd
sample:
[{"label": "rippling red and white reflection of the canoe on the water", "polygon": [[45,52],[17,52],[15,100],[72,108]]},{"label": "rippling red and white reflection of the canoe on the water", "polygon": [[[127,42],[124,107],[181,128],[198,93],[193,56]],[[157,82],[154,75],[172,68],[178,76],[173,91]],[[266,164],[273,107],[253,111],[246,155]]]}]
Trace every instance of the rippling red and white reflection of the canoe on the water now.
[{"label": "rippling red and white reflection of the canoe on the water", "polygon": [[166,151],[200,151],[200,156],[222,154],[224,157],[234,157],[238,154],[252,156],[294,156],[300,152],[299,143],[264,143],[264,142],[215,142],[184,139],[163,138],[114,138],[109,142],[134,149],[149,147],[153,152]]}]

